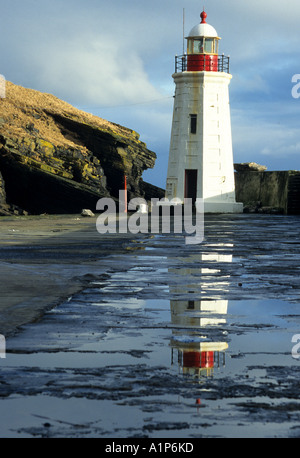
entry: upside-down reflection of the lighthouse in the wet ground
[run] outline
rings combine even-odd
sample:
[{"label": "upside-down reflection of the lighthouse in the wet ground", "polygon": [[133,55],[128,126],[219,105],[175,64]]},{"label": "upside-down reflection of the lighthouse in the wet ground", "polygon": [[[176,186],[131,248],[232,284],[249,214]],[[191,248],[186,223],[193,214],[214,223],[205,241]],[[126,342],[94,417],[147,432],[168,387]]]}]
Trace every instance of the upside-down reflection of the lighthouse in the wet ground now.
[{"label": "upside-down reflection of the lighthouse in the wet ground", "polygon": [[[193,258],[196,262],[196,259]],[[231,255],[202,254],[197,259],[201,266],[203,262],[231,262]],[[212,269],[205,267],[179,269],[177,273],[186,275],[188,293],[198,295],[207,285],[205,276],[217,272],[214,263]],[[199,273],[201,276],[199,277]],[[191,275],[198,278],[197,284],[191,285]],[[216,285],[216,283],[214,283]],[[228,287],[228,281],[221,281],[223,291]],[[203,288],[203,290],[202,290]],[[173,295],[182,293],[180,287],[172,286]],[[228,308],[227,300],[171,300],[171,322],[174,326],[171,346],[172,362],[174,349],[178,353],[178,365],[183,374],[200,377],[213,375],[215,367],[225,365],[225,341],[221,326],[226,323]]]}]

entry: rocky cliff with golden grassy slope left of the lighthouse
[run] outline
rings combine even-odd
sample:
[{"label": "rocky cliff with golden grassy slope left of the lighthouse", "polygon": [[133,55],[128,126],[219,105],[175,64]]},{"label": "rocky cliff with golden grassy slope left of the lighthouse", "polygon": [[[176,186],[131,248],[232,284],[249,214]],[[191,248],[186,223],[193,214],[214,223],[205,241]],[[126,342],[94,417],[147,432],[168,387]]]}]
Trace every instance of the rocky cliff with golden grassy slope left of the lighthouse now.
[{"label": "rocky cliff with golden grassy slope left of the lighthouse", "polygon": [[139,135],[77,110],[50,94],[6,83],[0,99],[0,214],[95,210],[118,198],[144,196],[142,173],[156,155]]}]

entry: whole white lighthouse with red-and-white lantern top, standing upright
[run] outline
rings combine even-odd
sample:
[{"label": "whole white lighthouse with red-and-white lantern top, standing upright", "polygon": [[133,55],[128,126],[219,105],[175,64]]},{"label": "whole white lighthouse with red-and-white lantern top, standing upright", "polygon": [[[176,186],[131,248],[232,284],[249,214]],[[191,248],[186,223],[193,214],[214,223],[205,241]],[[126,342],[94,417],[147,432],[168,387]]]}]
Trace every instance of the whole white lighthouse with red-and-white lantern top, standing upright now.
[{"label": "whole white lighthouse with red-and-white lantern top, standing upright", "polygon": [[203,199],[206,213],[240,213],[235,183],[229,106],[229,57],[218,55],[220,38],[202,22],[187,37],[187,54],[176,56],[175,100],[166,197]]}]

